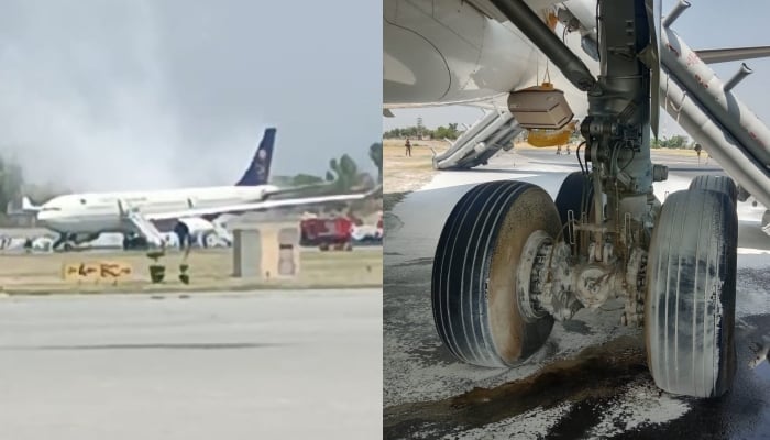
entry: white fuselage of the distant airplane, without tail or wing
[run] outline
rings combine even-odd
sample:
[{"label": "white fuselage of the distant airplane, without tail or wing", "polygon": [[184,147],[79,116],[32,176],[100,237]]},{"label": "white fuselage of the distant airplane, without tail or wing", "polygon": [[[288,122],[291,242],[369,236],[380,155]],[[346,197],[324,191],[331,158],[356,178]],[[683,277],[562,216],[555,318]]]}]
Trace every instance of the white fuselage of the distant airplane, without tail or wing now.
[{"label": "white fuselage of the distant airplane, without tail or wing", "polygon": [[152,191],[72,194],[45,202],[37,213],[38,224],[59,233],[94,234],[136,232],[125,212],[142,215],[184,211],[262,200],[271,185],[219,186]]}]

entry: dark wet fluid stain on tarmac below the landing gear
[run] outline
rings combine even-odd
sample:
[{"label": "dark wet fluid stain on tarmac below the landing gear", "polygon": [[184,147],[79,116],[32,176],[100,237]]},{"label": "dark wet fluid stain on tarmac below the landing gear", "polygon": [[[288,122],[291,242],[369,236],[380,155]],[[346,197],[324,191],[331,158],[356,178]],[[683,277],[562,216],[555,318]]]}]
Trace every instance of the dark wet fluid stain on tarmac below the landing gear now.
[{"label": "dark wet fluid stain on tarmac below the landing gear", "polygon": [[575,432],[568,425],[592,426],[591,419],[598,417],[586,418],[587,414],[582,414],[593,411],[593,400],[610,398],[619,387],[639,378],[651,381],[644,342],[639,338],[622,337],[587,348],[573,359],[553,362],[532,376],[494,388],[474,388],[442,400],[385,408],[384,435],[385,438],[410,438],[417,433],[421,438],[440,438],[458,429],[485,427],[564,402],[575,403],[572,411],[581,414],[569,415],[553,430],[569,428]]}]

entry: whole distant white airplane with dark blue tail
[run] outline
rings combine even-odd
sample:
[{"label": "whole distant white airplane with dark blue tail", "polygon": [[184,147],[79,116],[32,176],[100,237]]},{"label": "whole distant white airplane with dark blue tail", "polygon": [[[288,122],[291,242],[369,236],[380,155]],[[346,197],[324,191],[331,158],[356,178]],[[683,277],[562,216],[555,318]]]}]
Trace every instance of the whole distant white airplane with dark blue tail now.
[{"label": "whole distant white airplane with dark blue tail", "polygon": [[280,189],[267,184],[275,134],[274,128],[265,130],[251,165],[233,186],[69,194],[54,197],[42,206],[34,206],[24,197],[22,211],[35,213],[37,224],[61,234],[55,249],[68,249],[95,240],[105,232],[123,233],[123,246],[129,249],[143,241],[163,246],[161,230],[173,229],[183,245],[196,233],[223,233],[219,230],[222,227],[212,221],[223,213],[361,200],[377,190],[274,199],[304,188]]}]

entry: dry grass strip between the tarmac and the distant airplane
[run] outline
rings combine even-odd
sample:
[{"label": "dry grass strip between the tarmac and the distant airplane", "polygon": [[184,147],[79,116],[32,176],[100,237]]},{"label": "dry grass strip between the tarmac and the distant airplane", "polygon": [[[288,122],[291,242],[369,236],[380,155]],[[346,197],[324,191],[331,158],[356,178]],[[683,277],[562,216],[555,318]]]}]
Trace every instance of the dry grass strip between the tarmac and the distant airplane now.
[{"label": "dry grass strip between the tarmac and the distant airplane", "polygon": [[[260,280],[235,278],[231,249],[194,250],[188,258],[190,276],[188,285],[178,279],[180,252],[168,253],[161,258],[166,265],[166,278],[162,284],[150,282],[152,261],[143,252],[89,252],[0,255],[0,292],[6,294],[52,293],[136,293],[136,292],[211,292],[262,288],[344,288],[382,286],[383,257],[381,248],[353,252],[300,253],[299,275],[289,279]],[[112,282],[64,280],[64,264],[89,262],[121,262],[133,273]]]}]

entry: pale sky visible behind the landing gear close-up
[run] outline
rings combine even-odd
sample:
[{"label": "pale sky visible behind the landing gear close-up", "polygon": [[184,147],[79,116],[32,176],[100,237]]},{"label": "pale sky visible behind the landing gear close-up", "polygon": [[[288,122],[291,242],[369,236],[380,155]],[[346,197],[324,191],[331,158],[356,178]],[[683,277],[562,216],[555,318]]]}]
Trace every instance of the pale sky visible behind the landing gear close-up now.
[{"label": "pale sky visible behind the landing gear close-up", "polygon": [[[761,0],[745,0],[740,2],[707,2],[691,1],[691,7],[674,22],[672,29],[692,48],[745,47],[770,45],[770,34],[767,33],[767,16],[770,3]],[[673,0],[663,0],[662,12],[666,15],[675,4]],[[740,8],[737,6],[740,4]],[[738,98],[748,106],[762,121],[770,122],[770,58],[749,59],[746,64],[754,70],[736,88]],[[712,69],[724,81],[733,76],[740,66],[739,62],[711,65]],[[449,106],[420,109],[394,109],[394,118],[382,118],[383,131],[393,128],[415,125],[417,118],[422,123],[435,129],[449,122],[472,124],[482,112],[474,107]],[[661,109],[660,136],[668,138],[683,134],[666,111]]]}]

